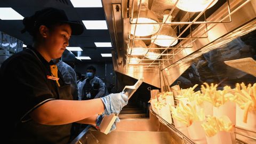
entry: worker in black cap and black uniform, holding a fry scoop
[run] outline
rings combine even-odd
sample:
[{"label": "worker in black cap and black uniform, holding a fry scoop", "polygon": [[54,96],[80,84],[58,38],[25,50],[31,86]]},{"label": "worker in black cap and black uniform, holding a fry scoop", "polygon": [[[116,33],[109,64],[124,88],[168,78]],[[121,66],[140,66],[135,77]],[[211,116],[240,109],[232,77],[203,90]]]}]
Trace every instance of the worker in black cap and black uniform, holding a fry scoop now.
[{"label": "worker in black cap and black uniform, holding a fry scoop", "polygon": [[102,119],[98,114],[116,114],[127,105],[123,93],[73,100],[70,85],[52,62],[61,57],[71,35],[83,33],[83,25],[52,7],[24,18],[23,24],[33,46],[13,54],[0,69],[2,143],[68,143],[71,123],[97,126]]}]

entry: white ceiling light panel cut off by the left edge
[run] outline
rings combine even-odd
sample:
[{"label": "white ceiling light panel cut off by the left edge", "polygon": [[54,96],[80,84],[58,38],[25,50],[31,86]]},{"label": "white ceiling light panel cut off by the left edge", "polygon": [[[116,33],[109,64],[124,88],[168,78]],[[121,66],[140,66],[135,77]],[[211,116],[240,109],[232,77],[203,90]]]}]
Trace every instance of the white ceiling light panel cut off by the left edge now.
[{"label": "white ceiling light panel cut off by the left edge", "polygon": [[24,17],[11,7],[0,7],[0,19],[2,20],[23,20]]}]

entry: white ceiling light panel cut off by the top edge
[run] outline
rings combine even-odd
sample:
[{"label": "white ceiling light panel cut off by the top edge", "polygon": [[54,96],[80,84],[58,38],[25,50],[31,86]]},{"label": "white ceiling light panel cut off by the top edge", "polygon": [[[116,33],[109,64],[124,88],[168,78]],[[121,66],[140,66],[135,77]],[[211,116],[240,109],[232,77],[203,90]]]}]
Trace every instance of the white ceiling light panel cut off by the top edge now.
[{"label": "white ceiling light panel cut off by the top edge", "polygon": [[74,7],[102,7],[101,0],[70,0]]}]

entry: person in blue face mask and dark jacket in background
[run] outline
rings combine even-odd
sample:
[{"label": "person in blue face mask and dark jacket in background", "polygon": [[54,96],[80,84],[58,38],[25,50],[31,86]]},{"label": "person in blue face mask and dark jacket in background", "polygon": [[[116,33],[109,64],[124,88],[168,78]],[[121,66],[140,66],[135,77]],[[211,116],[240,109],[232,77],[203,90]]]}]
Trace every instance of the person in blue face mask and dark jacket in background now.
[{"label": "person in blue face mask and dark jacket in background", "polygon": [[87,78],[78,87],[78,100],[97,99],[108,95],[105,83],[95,73],[95,67],[87,67]]}]

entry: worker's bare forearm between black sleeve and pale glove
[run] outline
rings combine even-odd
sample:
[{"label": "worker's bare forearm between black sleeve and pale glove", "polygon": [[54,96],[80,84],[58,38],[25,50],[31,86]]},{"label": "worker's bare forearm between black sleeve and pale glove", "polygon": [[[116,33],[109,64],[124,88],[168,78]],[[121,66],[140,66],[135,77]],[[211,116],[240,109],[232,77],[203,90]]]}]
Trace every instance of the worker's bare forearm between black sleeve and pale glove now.
[{"label": "worker's bare forearm between black sleeve and pale glove", "polygon": [[81,121],[103,111],[101,99],[51,100],[33,110],[30,117],[40,124],[61,125]]}]

